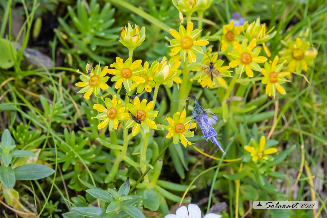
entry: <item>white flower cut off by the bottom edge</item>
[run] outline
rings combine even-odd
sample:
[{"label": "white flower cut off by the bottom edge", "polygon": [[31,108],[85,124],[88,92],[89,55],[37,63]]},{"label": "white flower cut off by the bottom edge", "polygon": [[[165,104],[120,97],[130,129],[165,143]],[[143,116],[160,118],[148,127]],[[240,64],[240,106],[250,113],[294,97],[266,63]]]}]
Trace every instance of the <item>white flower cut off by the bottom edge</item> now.
[{"label": "white flower cut off by the bottom edge", "polygon": [[[208,213],[203,218],[220,218],[221,215]],[[168,214],[164,218],[201,218],[201,210],[196,204],[189,204],[187,208],[181,206],[175,214]]]}]

